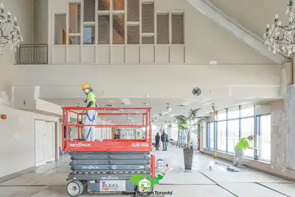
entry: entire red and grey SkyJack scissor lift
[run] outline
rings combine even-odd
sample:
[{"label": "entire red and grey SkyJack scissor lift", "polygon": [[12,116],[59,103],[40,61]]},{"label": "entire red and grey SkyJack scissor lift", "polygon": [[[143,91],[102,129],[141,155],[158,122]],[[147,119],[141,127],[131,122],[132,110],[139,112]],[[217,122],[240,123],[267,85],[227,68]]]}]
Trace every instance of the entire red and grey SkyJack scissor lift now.
[{"label": "entire red and grey SkyJack scissor lift", "polygon": [[[108,116],[142,116],[142,124],[93,124],[85,125],[82,117],[84,110],[96,110],[98,117]],[[71,156],[73,170],[67,180],[67,193],[77,197],[83,193],[87,183],[88,193],[122,193],[141,190],[129,181],[134,174],[155,177],[155,157],[151,155],[150,107],[63,107],[63,127],[65,138],[62,151]],[[77,124],[69,124],[71,114],[77,114]],[[84,127],[145,129],[141,139],[102,139],[101,141],[84,141]],[[77,139],[69,139],[69,128],[77,128]],[[135,135],[135,133],[134,133]]]}]

